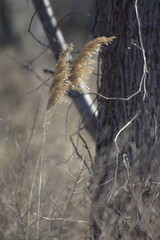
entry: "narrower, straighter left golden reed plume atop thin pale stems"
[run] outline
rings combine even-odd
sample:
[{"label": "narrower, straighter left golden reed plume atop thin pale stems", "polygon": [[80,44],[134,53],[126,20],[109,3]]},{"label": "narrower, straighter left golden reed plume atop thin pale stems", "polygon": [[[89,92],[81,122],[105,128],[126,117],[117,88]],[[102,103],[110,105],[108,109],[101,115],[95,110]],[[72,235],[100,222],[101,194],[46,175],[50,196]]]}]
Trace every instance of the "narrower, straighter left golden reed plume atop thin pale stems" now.
[{"label": "narrower, straighter left golden reed plume atop thin pale stems", "polygon": [[50,86],[50,97],[47,104],[47,110],[49,110],[56,103],[65,102],[64,94],[69,89],[69,74],[70,65],[69,58],[70,53],[73,50],[73,45],[69,44],[67,49],[61,52],[59,60],[56,66],[56,72],[52,84]]}]

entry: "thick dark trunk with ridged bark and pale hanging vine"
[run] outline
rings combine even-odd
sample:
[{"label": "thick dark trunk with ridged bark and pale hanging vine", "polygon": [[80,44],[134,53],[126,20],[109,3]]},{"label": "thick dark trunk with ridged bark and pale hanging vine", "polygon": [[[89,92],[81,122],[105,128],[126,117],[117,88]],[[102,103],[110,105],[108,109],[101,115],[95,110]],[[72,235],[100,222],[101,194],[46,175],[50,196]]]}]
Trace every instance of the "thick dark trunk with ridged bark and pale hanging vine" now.
[{"label": "thick dark trunk with ridged bark and pale hanging vine", "polygon": [[100,54],[91,239],[160,239],[160,0],[97,0]]}]

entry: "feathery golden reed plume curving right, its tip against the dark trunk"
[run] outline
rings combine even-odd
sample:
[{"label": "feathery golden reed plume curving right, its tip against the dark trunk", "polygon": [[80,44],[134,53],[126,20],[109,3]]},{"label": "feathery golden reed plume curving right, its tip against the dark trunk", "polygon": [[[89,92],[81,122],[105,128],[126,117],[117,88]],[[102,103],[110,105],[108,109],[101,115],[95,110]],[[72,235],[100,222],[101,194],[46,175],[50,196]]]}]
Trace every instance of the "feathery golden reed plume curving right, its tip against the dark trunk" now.
[{"label": "feathery golden reed plume curving right, its tip against the dark trunk", "polygon": [[93,71],[91,64],[95,63],[95,60],[92,59],[93,55],[99,52],[102,44],[108,45],[114,39],[115,37],[98,37],[82,48],[80,55],[73,62],[70,72],[72,89],[80,89],[81,84],[88,80],[89,75]]}]

